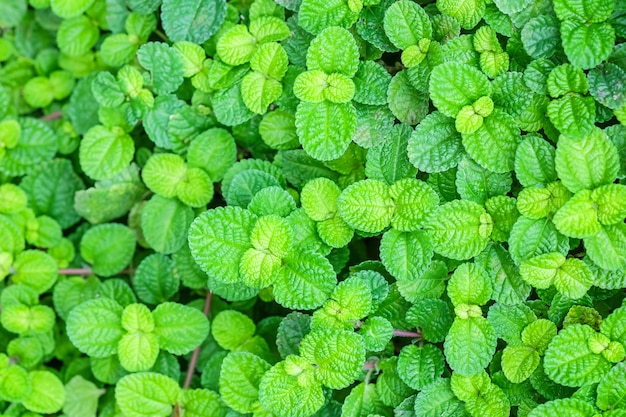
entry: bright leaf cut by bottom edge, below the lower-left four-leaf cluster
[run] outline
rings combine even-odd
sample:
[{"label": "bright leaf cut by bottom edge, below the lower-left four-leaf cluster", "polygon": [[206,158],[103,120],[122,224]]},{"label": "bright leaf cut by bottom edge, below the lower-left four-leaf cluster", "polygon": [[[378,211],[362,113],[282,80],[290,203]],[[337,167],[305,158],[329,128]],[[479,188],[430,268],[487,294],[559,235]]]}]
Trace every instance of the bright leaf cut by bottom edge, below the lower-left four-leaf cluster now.
[{"label": "bright leaf cut by bottom edge, below the lower-left four-leaf cluster", "polygon": [[154,372],[126,375],[115,387],[115,400],[127,417],[168,416],[179,396],[176,381]]}]

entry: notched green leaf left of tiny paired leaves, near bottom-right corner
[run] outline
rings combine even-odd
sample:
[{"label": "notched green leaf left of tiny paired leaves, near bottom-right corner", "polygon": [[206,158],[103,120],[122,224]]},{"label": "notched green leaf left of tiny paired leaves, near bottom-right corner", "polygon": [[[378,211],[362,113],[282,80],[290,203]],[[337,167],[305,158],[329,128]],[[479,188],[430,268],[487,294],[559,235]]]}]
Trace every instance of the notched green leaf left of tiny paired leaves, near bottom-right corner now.
[{"label": "notched green leaf left of tiny paired leaves, near bottom-right corner", "polygon": [[587,325],[572,324],[552,339],[544,358],[544,368],[550,379],[568,387],[580,387],[602,379],[611,369],[611,363],[591,351],[588,340],[594,334]]}]

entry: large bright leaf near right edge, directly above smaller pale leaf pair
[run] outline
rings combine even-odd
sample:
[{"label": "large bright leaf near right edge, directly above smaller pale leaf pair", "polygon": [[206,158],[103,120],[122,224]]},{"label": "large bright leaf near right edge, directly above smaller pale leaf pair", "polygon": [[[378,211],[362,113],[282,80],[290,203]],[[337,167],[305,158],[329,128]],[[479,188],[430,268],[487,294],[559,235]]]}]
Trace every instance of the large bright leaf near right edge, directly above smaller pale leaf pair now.
[{"label": "large bright leaf near right edge, directly above smaller pale leaf pair", "polygon": [[573,193],[612,183],[619,171],[617,149],[599,128],[582,140],[561,136],[555,162],[563,184]]}]

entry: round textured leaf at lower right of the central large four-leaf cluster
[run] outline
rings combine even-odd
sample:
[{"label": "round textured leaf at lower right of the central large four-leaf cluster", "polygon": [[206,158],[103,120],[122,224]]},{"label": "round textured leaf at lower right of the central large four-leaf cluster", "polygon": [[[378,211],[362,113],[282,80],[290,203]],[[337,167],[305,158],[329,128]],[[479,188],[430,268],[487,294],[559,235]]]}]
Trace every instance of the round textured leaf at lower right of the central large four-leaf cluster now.
[{"label": "round textured leaf at lower right of the central large four-leaf cluster", "polygon": [[283,307],[310,310],[330,296],[337,283],[335,271],[317,252],[290,253],[274,284],[274,296]]}]

